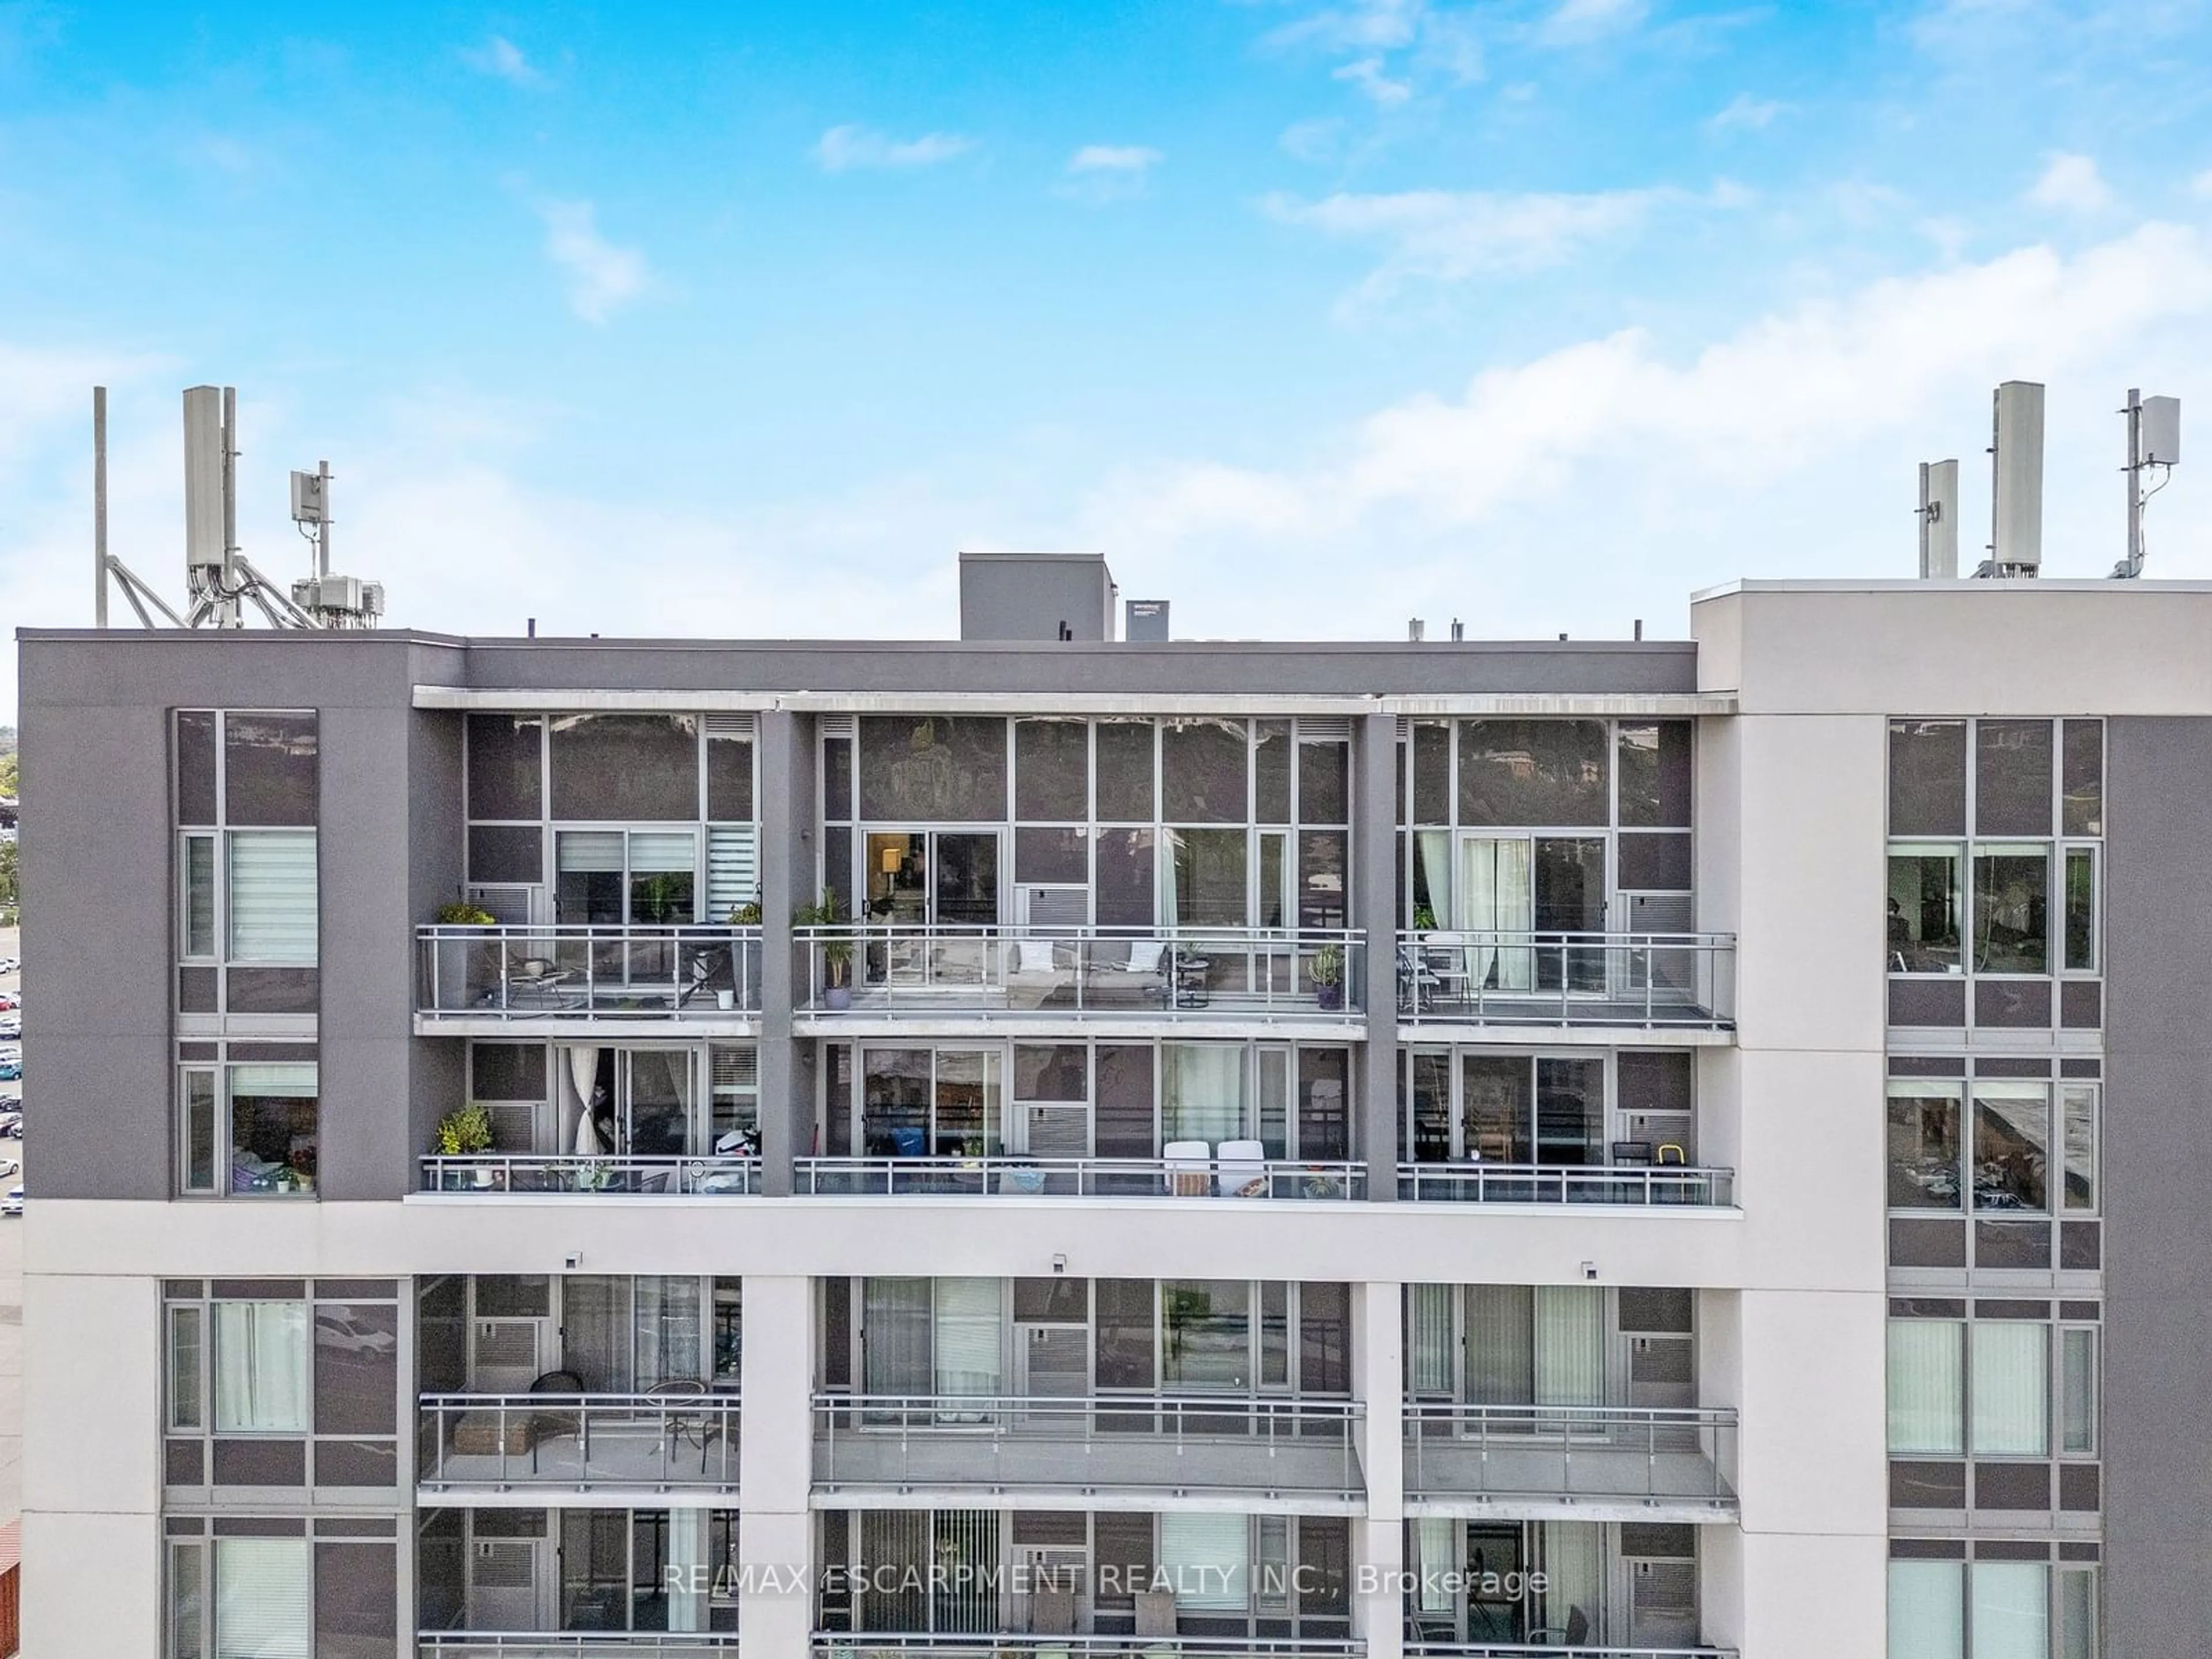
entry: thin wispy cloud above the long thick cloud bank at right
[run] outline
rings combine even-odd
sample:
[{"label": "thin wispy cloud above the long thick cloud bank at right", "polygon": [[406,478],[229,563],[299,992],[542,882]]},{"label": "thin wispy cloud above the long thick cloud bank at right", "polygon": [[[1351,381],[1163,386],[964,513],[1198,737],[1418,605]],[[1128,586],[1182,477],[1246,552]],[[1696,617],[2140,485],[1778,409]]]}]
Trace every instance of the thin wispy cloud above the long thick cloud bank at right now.
[{"label": "thin wispy cloud above the long thick cloud bank at right", "polygon": [[[1383,263],[1356,301],[1380,301],[1411,281],[1458,283],[1562,265],[1584,248],[1637,230],[1655,208],[1690,204],[1686,190],[1495,192],[1400,190],[1332,195],[1321,201],[1270,197],[1265,210],[1329,237],[1380,241]],[[1730,188],[1710,197],[1734,206]]]}]

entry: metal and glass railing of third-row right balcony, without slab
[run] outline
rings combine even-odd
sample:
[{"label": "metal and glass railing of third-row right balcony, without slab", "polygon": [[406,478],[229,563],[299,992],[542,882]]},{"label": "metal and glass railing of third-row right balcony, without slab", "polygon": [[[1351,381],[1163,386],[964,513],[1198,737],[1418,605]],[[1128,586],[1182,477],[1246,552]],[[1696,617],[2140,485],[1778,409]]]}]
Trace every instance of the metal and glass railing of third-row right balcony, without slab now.
[{"label": "metal and glass railing of third-row right balcony, without slab", "polygon": [[[1551,1453],[1557,1462],[1531,1467],[1528,1453]],[[1506,1462],[1509,1458],[1511,1462]],[[1661,1464],[1661,1458],[1668,1462]],[[1661,1469],[1677,1471],[1683,1467],[1683,1458],[1699,1460],[1701,1473],[1692,1480],[1661,1480]],[[1438,1462],[1433,1480],[1429,1475],[1431,1460]],[[1462,1493],[1599,1495],[1725,1509],[1736,1502],[1734,1462],[1734,1407],[1469,1405],[1462,1400],[1409,1400],[1405,1405],[1407,1498]]]}]

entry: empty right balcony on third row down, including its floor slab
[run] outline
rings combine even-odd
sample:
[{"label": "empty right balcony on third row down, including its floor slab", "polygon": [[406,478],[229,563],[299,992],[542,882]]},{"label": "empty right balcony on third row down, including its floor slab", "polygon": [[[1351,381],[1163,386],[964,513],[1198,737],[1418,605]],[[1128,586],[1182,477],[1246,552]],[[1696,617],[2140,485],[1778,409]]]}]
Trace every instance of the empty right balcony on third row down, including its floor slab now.
[{"label": "empty right balcony on third row down, including its floor slab", "polygon": [[1405,1495],[1425,1515],[1736,1513],[1734,1409],[1409,1402],[1405,1427]]}]

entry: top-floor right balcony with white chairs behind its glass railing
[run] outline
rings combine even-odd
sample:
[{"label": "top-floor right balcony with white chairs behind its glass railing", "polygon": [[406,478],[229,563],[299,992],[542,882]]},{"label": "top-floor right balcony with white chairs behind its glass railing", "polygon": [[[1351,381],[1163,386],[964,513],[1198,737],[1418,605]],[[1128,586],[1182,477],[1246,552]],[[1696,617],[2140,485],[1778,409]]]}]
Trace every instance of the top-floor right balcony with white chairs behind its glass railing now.
[{"label": "top-floor right balcony with white chairs behind its glass railing", "polygon": [[1725,1033],[1734,933],[1398,933],[1398,1022]]}]

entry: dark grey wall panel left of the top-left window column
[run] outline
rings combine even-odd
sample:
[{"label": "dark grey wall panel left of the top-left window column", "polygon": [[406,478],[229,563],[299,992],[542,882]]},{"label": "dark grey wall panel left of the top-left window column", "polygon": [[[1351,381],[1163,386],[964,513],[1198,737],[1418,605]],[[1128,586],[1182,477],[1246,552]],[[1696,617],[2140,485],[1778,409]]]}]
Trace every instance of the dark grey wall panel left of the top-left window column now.
[{"label": "dark grey wall panel left of the top-left window column", "polygon": [[[29,1190],[170,1190],[168,732],[159,703],[55,703],[22,655],[22,953],[38,993]],[[64,1133],[66,1130],[66,1133]]]}]

